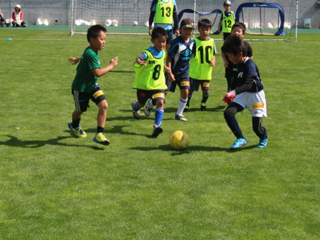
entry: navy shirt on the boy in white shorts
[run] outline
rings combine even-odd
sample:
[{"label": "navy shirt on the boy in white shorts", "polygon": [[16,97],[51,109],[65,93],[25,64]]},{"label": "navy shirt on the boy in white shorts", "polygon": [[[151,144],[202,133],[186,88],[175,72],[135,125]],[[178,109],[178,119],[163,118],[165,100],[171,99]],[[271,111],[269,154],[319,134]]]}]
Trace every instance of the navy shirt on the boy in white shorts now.
[{"label": "navy shirt on the boy in white shorts", "polygon": [[240,64],[233,65],[234,80],[231,89],[236,94],[244,91],[258,92],[263,89],[260,74],[254,61],[246,57]]}]

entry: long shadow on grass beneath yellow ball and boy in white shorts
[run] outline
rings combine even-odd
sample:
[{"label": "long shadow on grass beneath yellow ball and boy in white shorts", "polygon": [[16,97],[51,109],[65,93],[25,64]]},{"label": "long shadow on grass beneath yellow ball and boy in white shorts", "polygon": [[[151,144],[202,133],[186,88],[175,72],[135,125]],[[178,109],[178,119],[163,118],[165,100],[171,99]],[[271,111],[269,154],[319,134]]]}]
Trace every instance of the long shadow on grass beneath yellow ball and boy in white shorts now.
[{"label": "long shadow on grass beneath yellow ball and boy in white shorts", "polygon": [[171,148],[169,144],[166,145],[159,145],[158,147],[142,147],[142,146],[136,146],[136,147],[129,147],[129,149],[132,150],[140,150],[140,151],[153,151],[153,150],[162,150],[162,151],[172,151],[171,155],[181,155],[181,154],[187,154],[191,151],[225,151],[225,152],[236,152],[240,150],[246,150],[255,148],[255,145],[252,146],[243,146],[238,149],[230,150],[226,147],[217,147],[217,146],[187,146],[185,149],[182,150],[174,150]]}]

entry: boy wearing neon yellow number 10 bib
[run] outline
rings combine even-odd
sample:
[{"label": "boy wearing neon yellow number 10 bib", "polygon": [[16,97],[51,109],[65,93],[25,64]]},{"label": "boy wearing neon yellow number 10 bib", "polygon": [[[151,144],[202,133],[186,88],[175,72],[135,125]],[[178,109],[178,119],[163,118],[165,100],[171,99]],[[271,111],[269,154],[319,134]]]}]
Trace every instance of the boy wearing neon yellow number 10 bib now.
[{"label": "boy wearing neon yellow number 10 bib", "polygon": [[198,21],[198,31],[200,35],[194,39],[196,51],[192,54],[190,59],[190,89],[184,111],[189,110],[189,103],[192,97],[192,92],[197,91],[199,89],[199,86],[201,86],[202,90],[200,110],[204,111],[206,108],[205,103],[209,97],[209,86],[212,67],[215,65],[216,53],[214,39],[209,37],[211,25],[212,23],[209,19],[204,18],[199,19]]}]

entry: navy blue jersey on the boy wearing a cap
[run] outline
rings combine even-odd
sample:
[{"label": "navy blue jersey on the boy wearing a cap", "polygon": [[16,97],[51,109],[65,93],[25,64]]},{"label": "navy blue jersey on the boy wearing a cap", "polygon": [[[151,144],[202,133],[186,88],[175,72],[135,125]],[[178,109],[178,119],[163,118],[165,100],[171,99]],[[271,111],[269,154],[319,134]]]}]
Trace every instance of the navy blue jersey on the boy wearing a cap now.
[{"label": "navy blue jersey on the boy wearing a cap", "polygon": [[174,76],[181,76],[189,72],[189,61],[195,53],[195,42],[189,38],[189,42],[177,36],[171,41],[168,56],[171,57],[171,71]]}]

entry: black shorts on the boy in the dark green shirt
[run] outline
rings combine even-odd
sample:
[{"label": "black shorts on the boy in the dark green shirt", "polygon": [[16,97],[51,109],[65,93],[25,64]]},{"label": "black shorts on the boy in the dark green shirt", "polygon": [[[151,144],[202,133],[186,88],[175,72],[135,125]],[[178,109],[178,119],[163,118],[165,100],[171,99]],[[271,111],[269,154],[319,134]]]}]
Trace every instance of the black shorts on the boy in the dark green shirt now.
[{"label": "black shorts on the boy in the dark green shirt", "polygon": [[90,92],[81,92],[71,90],[76,111],[86,111],[89,106],[89,99],[91,99],[96,105],[105,99],[105,95],[98,83],[92,88]]}]

